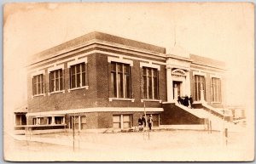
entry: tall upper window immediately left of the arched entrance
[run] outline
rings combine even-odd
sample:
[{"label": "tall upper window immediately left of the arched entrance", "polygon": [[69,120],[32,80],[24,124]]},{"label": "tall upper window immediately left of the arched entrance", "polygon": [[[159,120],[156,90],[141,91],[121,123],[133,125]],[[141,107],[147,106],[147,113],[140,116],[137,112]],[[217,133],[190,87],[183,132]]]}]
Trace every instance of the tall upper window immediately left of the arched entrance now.
[{"label": "tall upper window immediately left of the arched entrance", "polygon": [[157,69],[143,67],[143,93],[144,99],[159,99]]}]

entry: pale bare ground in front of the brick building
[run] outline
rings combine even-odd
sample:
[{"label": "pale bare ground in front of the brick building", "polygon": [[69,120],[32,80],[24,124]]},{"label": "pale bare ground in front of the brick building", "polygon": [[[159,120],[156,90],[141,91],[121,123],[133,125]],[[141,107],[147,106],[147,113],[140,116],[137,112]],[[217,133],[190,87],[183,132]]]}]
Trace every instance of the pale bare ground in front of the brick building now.
[{"label": "pale bare ground in front of the brick building", "polygon": [[[58,144],[5,137],[7,159],[14,161],[236,161],[247,159],[243,133],[172,130],[148,133],[53,133],[32,138]],[[28,139],[29,140],[29,139]],[[69,146],[64,146],[69,143]],[[57,143],[57,142],[56,142]],[[60,145],[60,143],[62,145]],[[73,143],[75,147],[73,148]],[[10,154],[9,152],[15,152]]]}]

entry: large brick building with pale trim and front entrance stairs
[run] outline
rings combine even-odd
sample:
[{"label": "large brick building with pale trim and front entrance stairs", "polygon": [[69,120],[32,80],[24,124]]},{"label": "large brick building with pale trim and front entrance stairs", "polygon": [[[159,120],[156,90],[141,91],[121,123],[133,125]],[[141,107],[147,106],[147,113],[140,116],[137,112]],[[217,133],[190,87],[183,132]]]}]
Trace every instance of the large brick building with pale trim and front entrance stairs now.
[{"label": "large brick building with pale trim and front entrance stairs", "polygon": [[[203,124],[202,110],[224,115],[224,82],[223,62],[91,32],[33,56],[26,116],[29,125],[123,129],[145,109],[154,127]],[[177,103],[190,94],[195,109]]]}]

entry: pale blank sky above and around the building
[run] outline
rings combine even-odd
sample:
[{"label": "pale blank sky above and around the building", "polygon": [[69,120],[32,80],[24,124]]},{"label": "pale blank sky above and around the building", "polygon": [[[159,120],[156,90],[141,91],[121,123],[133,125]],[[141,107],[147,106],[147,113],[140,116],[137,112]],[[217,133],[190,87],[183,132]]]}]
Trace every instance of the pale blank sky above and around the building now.
[{"label": "pale blank sky above and around the building", "polygon": [[[26,102],[29,56],[91,31],[226,63],[227,103],[253,108],[252,3],[23,3],[4,7],[5,105]],[[18,85],[17,85],[18,84]],[[6,106],[5,106],[6,107]]]}]

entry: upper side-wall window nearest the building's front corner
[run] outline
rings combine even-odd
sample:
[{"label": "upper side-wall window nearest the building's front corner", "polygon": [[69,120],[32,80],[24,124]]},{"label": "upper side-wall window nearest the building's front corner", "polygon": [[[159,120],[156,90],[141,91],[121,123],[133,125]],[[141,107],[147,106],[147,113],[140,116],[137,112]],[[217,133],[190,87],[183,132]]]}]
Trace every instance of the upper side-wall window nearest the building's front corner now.
[{"label": "upper side-wall window nearest the building's front corner", "polygon": [[70,66],[70,88],[85,86],[85,63]]}]

